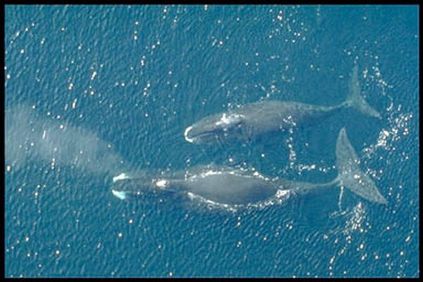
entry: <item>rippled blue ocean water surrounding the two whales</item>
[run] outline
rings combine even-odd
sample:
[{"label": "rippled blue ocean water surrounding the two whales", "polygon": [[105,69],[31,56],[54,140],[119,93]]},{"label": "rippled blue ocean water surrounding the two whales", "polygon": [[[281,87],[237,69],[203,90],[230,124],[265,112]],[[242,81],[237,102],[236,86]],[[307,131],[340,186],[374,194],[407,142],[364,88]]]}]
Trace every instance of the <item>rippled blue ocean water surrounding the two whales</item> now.
[{"label": "rippled blue ocean water surrounding the two whales", "polygon": [[[6,6],[8,277],[417,277],[417,6]],[[336,105],[359,67],[381,118],[347,109],[255,142],[185,128],[249,102]],[[336,177],[345,127],[388,204],[339,188],[238,209],[111,193],[201,164]],[[341,194],[341,197],[340,197]]]}]

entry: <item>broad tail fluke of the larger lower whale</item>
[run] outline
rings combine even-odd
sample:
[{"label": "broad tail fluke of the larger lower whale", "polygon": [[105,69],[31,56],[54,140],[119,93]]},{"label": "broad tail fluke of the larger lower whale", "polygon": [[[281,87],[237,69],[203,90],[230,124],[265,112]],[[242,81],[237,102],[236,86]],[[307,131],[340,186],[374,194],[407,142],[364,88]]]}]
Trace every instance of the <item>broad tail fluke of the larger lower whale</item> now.
[{"label": "broad tail fluke of the larger lower whale", "polygon": [[360,170],[360,160],[342,128],[336,141],[336,167],[338,185],[348,188],[355,194],[372,202],[388,204],[373,180]]}]

